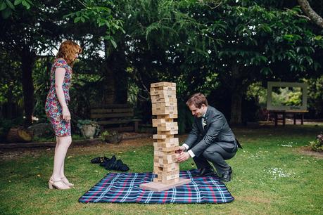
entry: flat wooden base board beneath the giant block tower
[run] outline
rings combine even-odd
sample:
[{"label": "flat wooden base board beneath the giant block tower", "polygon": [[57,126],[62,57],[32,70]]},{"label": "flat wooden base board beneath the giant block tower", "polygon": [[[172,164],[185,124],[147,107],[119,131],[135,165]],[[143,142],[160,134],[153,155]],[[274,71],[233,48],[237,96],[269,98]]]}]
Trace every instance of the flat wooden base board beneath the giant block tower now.
[{"label": "flat wooden base board beneath the giant block tower", "polygon": [[159,183],[158,179],[153,178],[153,182],[149,183],[141,183],[139,187],[143,190],[151,190],[151,191],[164,191],[169,190],[170,188],[175,188],[176,186],[183,185],[186,183],[190,183],[191,180],[187,178],[176,178],[176,181],[174,182],[168,182],[168,183]]}]

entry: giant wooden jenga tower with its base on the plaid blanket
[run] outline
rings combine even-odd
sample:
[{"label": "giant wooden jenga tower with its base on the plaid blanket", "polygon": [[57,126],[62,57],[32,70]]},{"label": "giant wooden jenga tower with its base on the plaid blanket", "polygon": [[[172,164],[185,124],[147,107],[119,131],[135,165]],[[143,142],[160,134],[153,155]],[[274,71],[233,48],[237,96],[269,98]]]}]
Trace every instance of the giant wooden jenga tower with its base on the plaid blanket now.
[{"label": "giant wooden jenga tower with its base on the plaid blanket", "polygon": [[174,137],[178,133],[177,122],[174,122],[177,119],[176,84],[151,84],[151,103],[153,115],[157,117],[153,119],[153,127],[157,127],[157,134],[153,135],[153,173],[157,177],[151,183],[141,184],[140,188],[162,191],[191,181],[179,178],[179,154],[175,153],[179,145],[178,138]]}]

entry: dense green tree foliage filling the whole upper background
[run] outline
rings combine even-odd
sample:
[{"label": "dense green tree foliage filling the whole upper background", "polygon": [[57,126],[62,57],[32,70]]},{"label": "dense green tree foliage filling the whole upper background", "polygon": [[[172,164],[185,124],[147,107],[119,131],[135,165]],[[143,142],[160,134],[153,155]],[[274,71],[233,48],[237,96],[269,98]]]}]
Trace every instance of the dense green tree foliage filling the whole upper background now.
[{"label": "dense green tree foliage filling the whole upper background", "polygon": [[[1,1],[1,12],[9,10],[8,2],[13,1]],[[23,2],[34,6],[26,10]],[[109,87],[117,92],[121,91],[120,85],[128,88],[129,100],[137,102],[137,112],[146,117],[144,122],[150,122],[148,89],[152,82],[177,82],[181,101],[196,91],[209,96],[222,89],[223,96],[232,100],[236,92],[245,96],[253,83],[315,78],[322,67],[322,32],[300,16],[303,13],[296,4],[286,1],[13,3],[12,19],[1,20],[5,24],[1,30],[6,32],[1,37],[1,44],[6,45],[1,53],[8,56],[1,58],[6,74],[0,78],[0,103],[13,98],[13,102],[19,100],[22,104],[19,61],[24,58],[20,47],[39,56],[68,35],[84,48],[83,59],[73,68],[72,124],[88,118],[90,106],[103,100]],[[34,115],[40,119],[46,119],[43,110],[49,87],[48,68],[46,60],[37,60],[33,69]],[[127,68],[129,72],[125,72]],[[8,94],[11,91],[13,96]],[[322,93],[313,94],[309,101],[316,110],[322,107],[315,103],[314,98],[321,99],[319,95],[322,97]],[[298,95],[290,97],[292,104],[298,103]],[[229,110],[230,105],[225,109]]]}]

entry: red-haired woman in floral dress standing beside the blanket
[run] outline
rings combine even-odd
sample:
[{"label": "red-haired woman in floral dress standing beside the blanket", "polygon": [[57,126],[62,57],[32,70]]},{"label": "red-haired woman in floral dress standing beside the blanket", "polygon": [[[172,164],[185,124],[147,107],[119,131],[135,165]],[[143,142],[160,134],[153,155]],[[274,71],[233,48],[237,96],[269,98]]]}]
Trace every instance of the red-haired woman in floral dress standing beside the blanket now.
[{"label": "red-haired woman in floral dress standing beside the blanket", "polygon": [[72,137],[70,133],[69,89],[72,79],[72,65],[82,48],[67,40],[61,44],[51,67],[51,88],[46,98],[45,111],[56,135],[56,148],[53,162],[53,174],[49,179],[49,188],[59,190],[73,186],[64,174],[64,160]]}]

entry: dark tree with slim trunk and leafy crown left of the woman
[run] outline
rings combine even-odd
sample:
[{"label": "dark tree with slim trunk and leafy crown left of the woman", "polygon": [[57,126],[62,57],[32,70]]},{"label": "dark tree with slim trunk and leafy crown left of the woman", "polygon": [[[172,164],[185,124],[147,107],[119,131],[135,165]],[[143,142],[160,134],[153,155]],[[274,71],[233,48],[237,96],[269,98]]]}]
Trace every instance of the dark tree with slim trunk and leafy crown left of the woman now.
[{"label": "dark tree with slim trunk and leafy crown left of the woman", "polygon": [[[6,1],[6,4],[9,2]],[[15,8],[8,4],[3,13],[6,19],[1,20],[1,32],[5,33],[0,36],[1,48],[12,59],[20,61],[26,126],[32,123],[34,107],[32,69],[34,62],[37,59],[37,54],[49,50],[55,37],[58,37],[55,32],[58,30],[54,22],[55,15],[53,16],[49,9],[53,3],[35,1],[30,8],[28,2],[30,1],[15,1],[17,3]],[[4,2],[2,6],[4,6]]]}]

